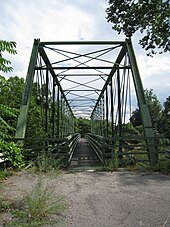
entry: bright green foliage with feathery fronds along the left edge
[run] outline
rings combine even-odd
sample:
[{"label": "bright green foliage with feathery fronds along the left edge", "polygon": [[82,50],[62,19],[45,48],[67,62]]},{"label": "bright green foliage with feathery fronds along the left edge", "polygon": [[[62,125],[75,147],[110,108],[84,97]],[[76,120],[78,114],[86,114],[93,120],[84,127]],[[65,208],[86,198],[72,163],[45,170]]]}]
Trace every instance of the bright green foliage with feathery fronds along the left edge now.
[{"label": "bright green foliage with feathery fronds along the left edge", "polygon": [[[13,68],[10,66],[11,62],[2,57],[2,52],[9,54],[16,54],[16,43],[0,40],[0,71],[7,73],[11,72]],[[0,77],[0,97],[2,98],[2,90],[7,85],[4,77]],[[13,97],[14,98],[14,97]],[[12,99],[13,99],[12,98]],[[3,102],[2,102],[3,101]],[[8,100],[9,101],[9,100]],[[23,156],[20,147],[14,142],[6,142],[4,139],[10,137],[10,132],[14,128],[8,124],[5,118],[16,117],[16,109],[4,104],[5,99],[0,103],[0,153],[11,163],[12,166],[21,168],[24,165]]]}]

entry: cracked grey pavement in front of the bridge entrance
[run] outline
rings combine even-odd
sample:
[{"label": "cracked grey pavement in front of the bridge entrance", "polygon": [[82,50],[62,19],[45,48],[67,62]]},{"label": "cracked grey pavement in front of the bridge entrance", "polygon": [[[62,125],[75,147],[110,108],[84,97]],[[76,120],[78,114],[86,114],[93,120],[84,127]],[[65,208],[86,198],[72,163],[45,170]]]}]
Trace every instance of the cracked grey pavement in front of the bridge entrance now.
[{"label": "cracked grey pavement in front of the bridge entrance", "polygon": [[[4,195],[19,197],[36,180],[37,176],[27,172],[14,175],[6,180]],[[170,176],[77,172],[63,173],[49,182],[67,198],[68,227],[170,227]]]}]

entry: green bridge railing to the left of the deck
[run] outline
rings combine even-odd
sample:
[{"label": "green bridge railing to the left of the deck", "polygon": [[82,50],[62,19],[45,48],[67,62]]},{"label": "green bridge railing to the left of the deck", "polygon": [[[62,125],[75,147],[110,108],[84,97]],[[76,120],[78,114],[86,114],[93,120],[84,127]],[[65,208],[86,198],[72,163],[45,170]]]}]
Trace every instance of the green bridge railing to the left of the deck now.
[{"label": "green bridge railing to the left of the deck", "polygon": [[63,138],[15,138],[23,144],[23,155],[26,161],[36,160],[42,155],[51,155],[61,159],[64,166],[69,165],[80,134],[74,133]]}]

